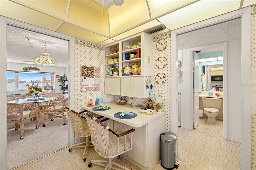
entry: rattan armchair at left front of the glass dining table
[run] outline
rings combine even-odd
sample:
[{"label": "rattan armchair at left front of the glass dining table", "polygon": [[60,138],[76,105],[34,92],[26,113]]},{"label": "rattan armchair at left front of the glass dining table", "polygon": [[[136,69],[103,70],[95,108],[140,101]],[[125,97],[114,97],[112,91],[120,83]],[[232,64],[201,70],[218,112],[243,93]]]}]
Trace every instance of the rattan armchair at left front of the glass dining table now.
[{"label": "rattan armchair at left front of the glass dining table", "polygon": [[[23,110],[23,107],[28,108],[28,110]],[[39,108],[37,107],[31,107],[26,104],[20,104],[20,103],[7,103],[7,123],[15,123],[15,127],[8,128],[12,129],[15,128],[15,130],[20,130],[20,139],[23,139],[23,133],[24,133],[24,122],[30,119],[33,119],[36,117],[35,122],[30,123],[36,123],[36,129],[38,128],[38,120],[39,120]],[[19,123],[19,124],[18,124]],[[26,123],[30,124],[30,123]]]}]

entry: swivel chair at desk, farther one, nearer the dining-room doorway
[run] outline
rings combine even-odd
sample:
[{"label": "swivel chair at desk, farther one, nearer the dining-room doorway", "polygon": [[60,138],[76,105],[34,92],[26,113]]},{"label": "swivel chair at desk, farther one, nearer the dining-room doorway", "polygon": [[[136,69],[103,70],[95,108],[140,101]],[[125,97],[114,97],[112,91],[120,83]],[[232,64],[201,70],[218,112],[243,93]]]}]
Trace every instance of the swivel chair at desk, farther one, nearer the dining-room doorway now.
[{"label": "swivel chair at desk, farther one, nearer the dining-room doorway", "polygon": [[[91,134],[90,134],[88,124],[86,122],[86,118],[82,116],[83,115],[82,113],[86,112],[86,110],[77,113],[76,111],[66,106],[65,106],[65,109],[66,109],[66,112],[68,113],[69,120],[72,122],[72,127],[74,129],[75,134],[79,137],[86,138],[86,141],[81,141],[74,145],[70,145],[68,151],[71,152],[72,148],[84,147],[82,161],[85,162],[86,158],[84,157],[84,155],[86,153],[86,150],[89,146],[93,146],[93,145],[90,145],[90,143],[92,143],[91,141],[89,141],[89,137],[91,136]],[[84,143],[85,145],[82,145]]]}]

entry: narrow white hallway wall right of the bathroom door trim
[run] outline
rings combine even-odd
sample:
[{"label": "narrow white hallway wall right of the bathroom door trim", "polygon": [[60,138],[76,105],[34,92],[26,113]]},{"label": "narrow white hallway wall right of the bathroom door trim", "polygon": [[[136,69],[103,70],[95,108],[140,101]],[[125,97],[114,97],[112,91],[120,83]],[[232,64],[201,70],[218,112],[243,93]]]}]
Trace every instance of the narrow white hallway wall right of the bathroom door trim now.
[{"label": "narrow white hallway wall right of the bathroom door trim", "polygon": [[228,41],[227,71],[228,139],[241,142],[241,39]]}]

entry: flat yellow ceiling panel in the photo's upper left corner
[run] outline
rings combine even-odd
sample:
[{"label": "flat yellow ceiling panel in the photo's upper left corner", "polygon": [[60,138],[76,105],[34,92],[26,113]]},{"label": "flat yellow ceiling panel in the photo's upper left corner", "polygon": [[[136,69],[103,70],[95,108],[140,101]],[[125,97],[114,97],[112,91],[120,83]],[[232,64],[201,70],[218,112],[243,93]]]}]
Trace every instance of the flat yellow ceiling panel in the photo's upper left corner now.
[{"label": "flat yellow ceiling panel in the photo's upper left corner", "polygon": [[1,0],[0,15],[55,31],[63,21],[14,2]]}]

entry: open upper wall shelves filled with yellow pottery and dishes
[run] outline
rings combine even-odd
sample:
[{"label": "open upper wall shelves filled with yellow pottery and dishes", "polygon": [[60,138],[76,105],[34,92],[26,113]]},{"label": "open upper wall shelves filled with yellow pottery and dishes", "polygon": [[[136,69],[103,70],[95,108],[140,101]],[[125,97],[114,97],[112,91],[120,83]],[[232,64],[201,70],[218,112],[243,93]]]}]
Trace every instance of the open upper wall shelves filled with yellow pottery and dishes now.
[{"label": "open upper wall shelves filled with yellow pottery and dishes", "polygon": [[[111,54],[112,47],[115,45],[117,46],[118,43],[120,47],[119,53]],[[124,77],[128,75],[129,77],[152,76],[153,62],[150,60],[152,57],[152,36],[147,33],[137,33],[110,43],[104,46],[104,50],[104,52],[106,52],[103,57],[106,70],[104,78],[109,78],[111,76]],[[119,67],[116,67],[116,64],[118,64]],[[114,70],[115,73],[118,72],[119,74],[114,75],[111,70]],[[125,70],[128,70],[128,73],[125,73]],[[129,72],[131,72],[131,74]]]}]

